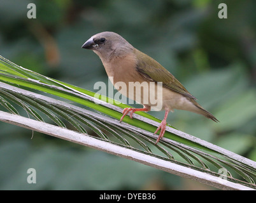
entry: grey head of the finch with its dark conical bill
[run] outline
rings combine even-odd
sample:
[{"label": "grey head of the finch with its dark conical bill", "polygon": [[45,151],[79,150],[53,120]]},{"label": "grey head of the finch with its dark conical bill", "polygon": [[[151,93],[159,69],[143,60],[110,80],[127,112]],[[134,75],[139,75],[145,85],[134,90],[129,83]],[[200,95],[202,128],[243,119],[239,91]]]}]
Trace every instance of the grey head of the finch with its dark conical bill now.
[{"label": "grey head of the finch with its dark conical bill", "polygon": [[88,39],[82,46],[92,49],[104,61],[113,57],[122,57],[134,48],[122,36],[115,32],[101,32]]}]

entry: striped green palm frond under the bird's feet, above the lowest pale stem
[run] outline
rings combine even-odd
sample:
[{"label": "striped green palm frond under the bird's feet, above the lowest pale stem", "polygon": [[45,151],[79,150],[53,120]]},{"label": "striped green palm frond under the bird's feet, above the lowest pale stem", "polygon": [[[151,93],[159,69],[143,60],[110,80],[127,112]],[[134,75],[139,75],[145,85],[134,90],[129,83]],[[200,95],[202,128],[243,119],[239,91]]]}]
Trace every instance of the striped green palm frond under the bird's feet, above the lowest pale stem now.
[{"label": "striped green palm frond under the bird's feet, above the lowest pale stem", "polygon": [[[215,184],[216,181],[212,184],[215,187],[223,188],[226,183],[222,184],[221,180],[224,178],[231,185],[236,183],[256,188],[255,162],[178,131],[172,126],[167,126],[165,137],[158,145],[154,145],[157,136],[153,135],[153,132],[160,120],[145,112],[134,114],[134,119],[125,117],[124,122],[120,123],[122,109],[129,107],[128,105],[104,96],[99,97],[100,100],[96,99],[95,93],[91,91],[24,69],[2,56],[0,56],[0,81],[1,106],[15,117],[23,117],[24,121],[25,117],[29,116],[30,120],[33,118],[43,124],[55,124],[61,129],[73,129],[79,133],[79,136],[81,134],[85,137],[94,136],[98,141],[154,157],[162,160],[164,164],[170,163],[193,169],[198,173],[195,176],[203,173],[215,178],[221,177],[218,186]],[[30,88],[31,91],[24,88]],[[56,100],[50,95],[43,96],[35,93],[34,90],[65,98],[85,108]],[[6,115],[4,112],[0,114]],[[1,121],[8,122],[3,117]],[[12,123],[17,124],[14,121]],[[26,128],[25,125],[23,127]],[[27,128],[40,131],[31,126]],[[111,150],[108,152],[112,153]],[[129,155],[126,157],[129,158]],[[145,163],[141,159],[138,161]],[[160,165],[150,166],[164,169]],[[224,171],[225,174],[222,174]],[[181,171],[178,174],[181,174]],[[203,180],[199,178],[199,181]]]}]

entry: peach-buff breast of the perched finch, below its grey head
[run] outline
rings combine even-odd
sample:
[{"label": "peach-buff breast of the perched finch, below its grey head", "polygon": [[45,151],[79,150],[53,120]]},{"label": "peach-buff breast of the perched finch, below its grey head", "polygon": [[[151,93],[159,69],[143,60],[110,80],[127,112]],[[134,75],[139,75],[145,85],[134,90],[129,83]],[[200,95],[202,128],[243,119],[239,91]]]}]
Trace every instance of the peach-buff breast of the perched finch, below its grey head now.
[{"label": "peach-buff breast of the perched finch, below its grey head", "polygon": [[[137,60],[133,55],[103,62],[112,84],[122,95],[143,105],[157,105],[157,83],[146,81],[136,70]],[[160,109],[159,109],[160,110]]]}]

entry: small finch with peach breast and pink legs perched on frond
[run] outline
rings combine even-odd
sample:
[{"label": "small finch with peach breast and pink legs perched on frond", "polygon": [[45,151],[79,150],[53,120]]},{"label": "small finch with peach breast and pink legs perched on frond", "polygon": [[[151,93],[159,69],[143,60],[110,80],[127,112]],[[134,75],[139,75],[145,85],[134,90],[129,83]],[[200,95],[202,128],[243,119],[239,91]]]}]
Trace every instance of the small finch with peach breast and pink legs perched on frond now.
[{"label": "small finch with peach breast and pink legs perched on frond", "polygon": [[[138,111],[149,112],[154,109],[165,111],[164,119],[154,133],[160,130],[155,144],[164,136],[167,116],[174,109],[201,114],[219,122],[214,115],[197,103],[196,97],[191,95],[173,74],[152,57],[134,48],[119,34],[100,32],[90,37],[82,48],[91,49],[99,56],[108,78],[122,95],[143,105],[143,108],[124,108],[120,122],[127,114],[132,119],[132,114]],[[120,84],[125,84],[126,87]],[[147,89],[134,92],[134,88],[141,89],[141,87]],[[150,98],[157,98],[157,102],[152,99],[153,102]]]}]

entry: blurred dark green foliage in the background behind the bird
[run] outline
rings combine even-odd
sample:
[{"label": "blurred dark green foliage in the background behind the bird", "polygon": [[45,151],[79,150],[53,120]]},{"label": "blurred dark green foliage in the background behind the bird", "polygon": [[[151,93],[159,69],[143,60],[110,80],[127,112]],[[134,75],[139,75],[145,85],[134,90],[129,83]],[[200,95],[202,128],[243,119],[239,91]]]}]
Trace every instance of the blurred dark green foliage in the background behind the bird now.
[{"label": "blurred dark green foliage in the background behind the bird", "polygon": [[[27,18],[29,3],[36,4],[36,19]],[[227,19],[218,18],[220,3],[227,4]],[[256,160],[256,1],[2,0],[0,28],[0,55],[90,90],[108,78],[98,56],[81,46],[97,32],[117,32],[166,67],[220,121],[176,110],[170,124]],[[2,190],[209,189],[57,138],[4,123],[0,128]],[[36,184],[27,183],[31,167]]]}]

